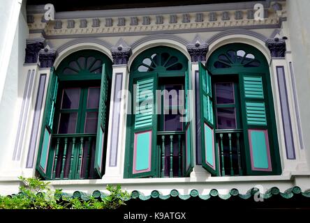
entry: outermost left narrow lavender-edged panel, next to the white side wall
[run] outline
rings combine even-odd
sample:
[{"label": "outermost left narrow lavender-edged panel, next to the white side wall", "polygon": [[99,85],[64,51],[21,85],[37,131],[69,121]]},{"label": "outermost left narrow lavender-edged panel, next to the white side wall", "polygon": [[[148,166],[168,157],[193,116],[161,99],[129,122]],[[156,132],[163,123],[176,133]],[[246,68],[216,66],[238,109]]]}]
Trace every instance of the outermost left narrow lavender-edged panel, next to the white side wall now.
[{"label": "outermost left narrow lavender-edged panel, next to the white side wall", "polygon": [[28,70],[27,81],[22,100],[22,109],[20,112],[20,121],[18,123],[17,138],[15,141],[15,148],[13,152],[13,160],[20,160],[20,155],[22,152],[22,141],[24,141],[24,132],[27,123],[27,115],[30,108],[29,104],[33,86],[34,86],[34,70]]}]

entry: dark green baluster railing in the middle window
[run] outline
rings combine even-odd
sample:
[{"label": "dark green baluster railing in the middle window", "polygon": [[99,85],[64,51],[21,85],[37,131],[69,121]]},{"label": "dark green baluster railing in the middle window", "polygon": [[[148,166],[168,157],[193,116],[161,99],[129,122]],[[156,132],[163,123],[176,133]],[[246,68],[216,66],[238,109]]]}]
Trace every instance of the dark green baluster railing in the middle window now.
[{"label": "dark green baluster railing in the middle window", "polygon": [[184,132],[157,132],[158,169],[161,177],[181,177],[184,175],[183,154]]}]

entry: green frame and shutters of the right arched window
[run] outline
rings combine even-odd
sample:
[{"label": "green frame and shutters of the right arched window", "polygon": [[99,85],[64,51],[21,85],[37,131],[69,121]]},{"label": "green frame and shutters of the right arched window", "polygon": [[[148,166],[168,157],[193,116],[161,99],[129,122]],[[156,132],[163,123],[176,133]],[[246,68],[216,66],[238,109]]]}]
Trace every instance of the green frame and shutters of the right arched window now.
[{"label": "green frame and shutters of the right arched window", "polygon": [[[212,175],[235,176],[236,172],[239,172],[237,175],[248,176],[281,174],[269,70],[265,56],[255,47],[243,43],[219,47],[209,56],[206,66],[200,63],[200,105],[203,103],[202,92],[207,91],[205,83],[212,85],[214,82],[230,82],[235,79],[235,92],[238,93],[235,99],[239,99],[236,100],[239,105],[234,107],[240,109],[237,125],[241,130],[218,130],[214,123],[209,123],[206,127],[201,122],[202,137],[198,140],[202,144],[202,166]],[[208,78],[207,82],[205,77]],[[219,105],[214,100],[212,104],[214,109],[202,106],[201,120],[205,118],[203,114],[206,111],[212,112],[216,118],[214,111]],[[226,147],[223,145],[225,140],[229,142]],[[237,141],[235,162],[238,162],[238,171],[232,167],[233,140]],[[228,150],[226,155],[224,148]],[[215,166],[208,164],[208,157],[212,156],[216,161]],[[226,171],[227,164],[230,174]]]}]

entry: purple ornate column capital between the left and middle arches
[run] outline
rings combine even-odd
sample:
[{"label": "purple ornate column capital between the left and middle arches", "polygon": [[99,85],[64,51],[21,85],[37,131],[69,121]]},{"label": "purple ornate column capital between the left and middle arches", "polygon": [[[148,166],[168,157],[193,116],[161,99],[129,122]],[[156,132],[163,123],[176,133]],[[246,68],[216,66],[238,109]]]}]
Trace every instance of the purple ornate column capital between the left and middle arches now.
[{"label": "purple ornate column capital between the left and middle arches", "polygon": [[111,54],[114,65],[127,64],[131,56],[131,47],[128,47],[123,39],[119,39],[115,47],[111,48]]}]

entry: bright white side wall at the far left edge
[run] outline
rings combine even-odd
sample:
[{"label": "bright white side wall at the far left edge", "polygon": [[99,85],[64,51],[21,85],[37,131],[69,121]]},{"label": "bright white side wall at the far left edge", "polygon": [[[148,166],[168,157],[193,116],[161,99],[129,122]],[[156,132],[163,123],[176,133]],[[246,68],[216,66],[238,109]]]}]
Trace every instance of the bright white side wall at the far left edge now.
[{"label": "bright white side wall at the far left edge", "polygon": [[[13,1],[12,1],[13,2]],[[7,1],[1,1],[2,3],[7,3]],[[8,58],[8,68],[5,73],[1,73],[1,81],[3,81],[3,94],[0,101],[0,176],[10,176],[8,173],[8,167],[12,168],[12,171],[19,168],[19,165],[13,163],[13,148],[15,146],[16,130],[18,125],[18,119],[20,115],[20,106],[24,91],[24,82],[26,80],[26,75],[23,72],[23,63],[26,47],[26,38],[29,35],[29,30],[27,26],[26,8],[25,2],[22,5],[20,13],[18,15],[17,26],[15,26],[15,35],[12,39],[10,52],[1,52],[4,49],[3,45],[0,47],[0,52]],[[9,4],[7,3],[9,6]],[[1,9],[2,10],[2,9]],[[4,18],[2,22],[3,15],[0,12],[0,25],[6,24],[8,29],[13,29],[10,21]],[[4,33],[1,32],[0,40],[3,40]],[[10,47],[6,47],[8,49]],[[5,78],[2,77],[6,75]],[[6,168],[3,168],[6,167]]]}]

